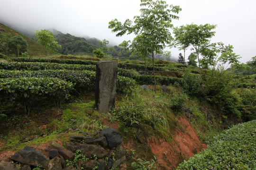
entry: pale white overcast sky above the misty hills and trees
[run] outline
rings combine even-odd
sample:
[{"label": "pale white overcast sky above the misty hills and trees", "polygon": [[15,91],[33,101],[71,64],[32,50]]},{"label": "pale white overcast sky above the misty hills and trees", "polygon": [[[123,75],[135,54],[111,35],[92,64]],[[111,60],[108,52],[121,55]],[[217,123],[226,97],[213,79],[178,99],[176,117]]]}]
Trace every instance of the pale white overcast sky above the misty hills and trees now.
[{"label": "pale white overcast sky above the misty hills and trees", "polygon": [[[182,8],[174,26],[218,25],[212,42],[233,45],[242,62],[256,56],[256,0],[165,1]],[[109,21],[133,20],[140,15],[139,9],[140,0],[0,0],[0,21],[33,32],[54,28],[64,34],[107,39],[118,45],[133,37],[116,37],[108,28]],[[178,56],[178,50],[170,51]]]}]

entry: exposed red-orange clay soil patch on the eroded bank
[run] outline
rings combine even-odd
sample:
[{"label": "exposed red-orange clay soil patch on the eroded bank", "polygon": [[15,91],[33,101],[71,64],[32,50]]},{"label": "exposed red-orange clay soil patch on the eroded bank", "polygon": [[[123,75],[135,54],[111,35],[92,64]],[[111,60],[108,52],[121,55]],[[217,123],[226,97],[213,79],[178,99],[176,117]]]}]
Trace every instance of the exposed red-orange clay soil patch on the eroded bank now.
[{"label": "exposed red-orange clay soil patch on the eroded bank", "polygon": [[194,153],[207,148],[207,145],[199,140],[196,130],[186,118],[181,117],[178,121],[183,132],[177,131],[171,144],[163,139],[157,141],[156,138],[148,141],[152,153],[161,160],[158,163],[165,170],[175,169],[183,159],[193,157]]}]

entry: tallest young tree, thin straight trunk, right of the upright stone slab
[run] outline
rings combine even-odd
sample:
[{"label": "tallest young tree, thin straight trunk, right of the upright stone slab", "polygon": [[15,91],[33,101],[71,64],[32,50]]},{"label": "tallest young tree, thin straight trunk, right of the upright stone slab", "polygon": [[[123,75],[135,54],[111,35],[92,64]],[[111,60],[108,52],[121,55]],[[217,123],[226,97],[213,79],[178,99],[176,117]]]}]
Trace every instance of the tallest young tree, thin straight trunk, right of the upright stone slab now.
[{"label": "tallest young tree, thin straight trunk, right of the upright stone slab", "polygon": [[[174,14],[178,14],[181,8],[179,6],[169,6],[163,0],[141,0],[140,6],[142,7],[140,9],[141,15],[134,17],[134,23],[127,19],[122,24],[114,19],[109,22],[109,28],[112,29],[112,32],[117,32],[116,36],[124,34],[135,34],[137,36],[138,43],[141,44],[137,46],[137,50],[152,57],[155,80],[155,53],[161,54],[166,47],[165,44],[171,43],[173,38],[169,28],[173,27],[171,24],[173,19],[179,19]],[[139,35],[142,35],[143,38],[139,38]]]}]

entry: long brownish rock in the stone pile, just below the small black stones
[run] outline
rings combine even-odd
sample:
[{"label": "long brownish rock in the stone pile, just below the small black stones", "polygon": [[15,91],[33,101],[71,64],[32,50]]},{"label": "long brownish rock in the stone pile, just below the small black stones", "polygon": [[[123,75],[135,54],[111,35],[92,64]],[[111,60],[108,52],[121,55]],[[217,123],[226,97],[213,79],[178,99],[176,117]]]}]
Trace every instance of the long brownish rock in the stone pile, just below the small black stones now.
[{"label": "long brownish rock in the stone pile, just below the small black stones", "polygon": [[72,152],[80,149],[82,154],[89,158],[91,158],[91,156],[94,154],[97,156],[97,158],[103,158],[106,154],[104,148],[94,144],[66,143],[66,146]]}]

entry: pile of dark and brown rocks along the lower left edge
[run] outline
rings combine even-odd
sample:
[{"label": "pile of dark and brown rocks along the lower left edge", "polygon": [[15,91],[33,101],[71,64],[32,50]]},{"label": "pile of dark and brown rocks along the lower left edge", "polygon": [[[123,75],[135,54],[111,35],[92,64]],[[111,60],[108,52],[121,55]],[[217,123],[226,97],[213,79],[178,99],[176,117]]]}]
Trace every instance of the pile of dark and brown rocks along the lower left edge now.
[{"label": "pile of dark and brown rocks along the lower left edge", "polygon": [[[51,143],[51,149],[45,149],[45,154],[34,150],[30,146],[15,153],[11,160],[20,163],[21,170],[32,170],[40,165],[45,170],[74,170],[71,165],[66,166],[66,160],[73,161],[74,153],[80,150],[82,155],[89,158],[84,170],[110,170],[119,168],[126,160],[125,151],[118,132],[113,128],[106,128],[94,138],[91,136],[70,136],[66,147],[56,142]],[[96,167],[96,168],[95,168]],[[18,170],[14,163],[0,162],[0,170]]]}]

